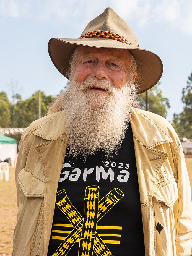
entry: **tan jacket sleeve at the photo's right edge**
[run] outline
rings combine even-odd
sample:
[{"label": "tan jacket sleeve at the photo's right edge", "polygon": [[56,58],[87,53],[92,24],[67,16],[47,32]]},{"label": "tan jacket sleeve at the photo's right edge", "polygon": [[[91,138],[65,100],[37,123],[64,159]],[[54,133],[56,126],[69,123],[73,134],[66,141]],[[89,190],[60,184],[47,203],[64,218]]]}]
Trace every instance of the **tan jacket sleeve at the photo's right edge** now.
[{"label": "tan jacket sleeve at the photo's right edge", "polygon": [[175,158],[177,166],[177,185],[178,200],[175,205],[177,212],[176,227],[176,251],[177,256],[190,256],[192,245],[192,203],[191,187],[188,171],[183,154],[183,148],[180,145]]}]

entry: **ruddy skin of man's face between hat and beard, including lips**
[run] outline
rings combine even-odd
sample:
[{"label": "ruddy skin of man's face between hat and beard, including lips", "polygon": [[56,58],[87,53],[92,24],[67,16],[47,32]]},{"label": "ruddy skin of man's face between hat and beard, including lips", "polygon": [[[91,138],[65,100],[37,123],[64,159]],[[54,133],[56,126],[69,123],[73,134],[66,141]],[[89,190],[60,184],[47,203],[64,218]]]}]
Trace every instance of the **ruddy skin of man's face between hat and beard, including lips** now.
[{"label": "ruddy skin of man's face between hat and beard, including lips", "polygon": [[[127,82],[130,66],[130,52],[126,49],[101,49],[79,46],[77,66],[74,67],[74,78],[78,83],[92,78],[108,81],[114,88],[119,89]],[[72,67],[73,69],[73,67]],[[136,77],[134,73],[133,80]],[[102,86],[89,90],[95,94],[104,94]]]}]

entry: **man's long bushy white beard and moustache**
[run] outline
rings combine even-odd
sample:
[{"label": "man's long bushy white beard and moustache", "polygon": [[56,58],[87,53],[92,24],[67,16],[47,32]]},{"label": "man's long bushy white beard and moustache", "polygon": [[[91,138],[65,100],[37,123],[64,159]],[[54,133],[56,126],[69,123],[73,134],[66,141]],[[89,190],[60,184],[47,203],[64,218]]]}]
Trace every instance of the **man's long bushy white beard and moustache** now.
[{"label": "man's long bushy white beard and moustache", "polygon": [[[90,87],[102,87],[105,93],[94,93]],[[134,84],[119,89],[106,80],[74,79],[65,94],[69,155],[75,157],[102,150],[105,155],[121,147],[131,117],[133,99],[138,92]]]}]

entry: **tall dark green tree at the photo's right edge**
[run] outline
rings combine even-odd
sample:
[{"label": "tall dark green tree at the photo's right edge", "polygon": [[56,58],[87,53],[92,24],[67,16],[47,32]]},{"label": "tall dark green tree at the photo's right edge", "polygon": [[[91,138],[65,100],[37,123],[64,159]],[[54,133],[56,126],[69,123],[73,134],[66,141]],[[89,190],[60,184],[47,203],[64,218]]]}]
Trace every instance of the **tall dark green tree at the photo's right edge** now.
[{"label": "tall dark green tree at the photo's right edge", "polygon": [[188,77],[187,85],[182,90],[181,98],[184,106],[180,114],[174,113],[173,127],[179,137],[192,138],[192,72]]}]

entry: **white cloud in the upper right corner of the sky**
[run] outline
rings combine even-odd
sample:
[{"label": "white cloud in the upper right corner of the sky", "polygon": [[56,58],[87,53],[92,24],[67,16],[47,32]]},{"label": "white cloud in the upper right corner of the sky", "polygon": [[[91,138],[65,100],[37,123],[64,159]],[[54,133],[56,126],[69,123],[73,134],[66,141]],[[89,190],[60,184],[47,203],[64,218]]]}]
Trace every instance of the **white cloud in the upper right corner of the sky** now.
[{"label": "white cloud in the upper right corner of the sky", "polygon": [[192,36],[191,0],[113,0],[113,8],[127,22],[134,20],[139,27],[161,23]]}]

